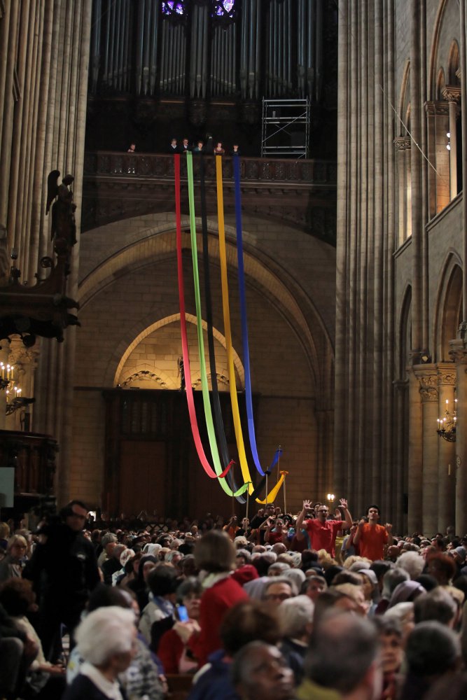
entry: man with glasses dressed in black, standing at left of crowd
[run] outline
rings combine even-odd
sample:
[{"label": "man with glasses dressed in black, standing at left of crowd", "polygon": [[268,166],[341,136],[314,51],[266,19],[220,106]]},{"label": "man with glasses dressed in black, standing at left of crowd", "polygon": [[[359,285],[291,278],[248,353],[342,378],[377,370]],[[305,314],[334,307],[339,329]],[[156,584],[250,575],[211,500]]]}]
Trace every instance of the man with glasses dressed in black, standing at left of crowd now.
[{"label": "man with glasses dressed in black, standing at left of crowd", "polygon": [[39,603],[39,636],[49,661],[61,652],[61,626],[72,635],[90,591],[99,583],[94,547],[83,535],[88,509],[72,500],[60,511],[60,521],[41,528],[41,542],[25,566]]}]

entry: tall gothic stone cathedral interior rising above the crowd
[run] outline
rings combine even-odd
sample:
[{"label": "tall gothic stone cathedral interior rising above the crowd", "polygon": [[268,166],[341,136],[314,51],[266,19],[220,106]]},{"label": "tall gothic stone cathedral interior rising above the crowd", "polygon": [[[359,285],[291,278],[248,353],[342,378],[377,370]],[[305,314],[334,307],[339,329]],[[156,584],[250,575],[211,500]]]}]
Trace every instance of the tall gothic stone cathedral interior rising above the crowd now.
[{"label": "tall gothic stone cathedral interior rising above the crowd", "polygon": [[183,272],[209,459],[211,328],[234,480],[251,384],[286,510],[467,531],[466,37],[456,0],[0,0],[2,516],[243,514],[193,440]]}]

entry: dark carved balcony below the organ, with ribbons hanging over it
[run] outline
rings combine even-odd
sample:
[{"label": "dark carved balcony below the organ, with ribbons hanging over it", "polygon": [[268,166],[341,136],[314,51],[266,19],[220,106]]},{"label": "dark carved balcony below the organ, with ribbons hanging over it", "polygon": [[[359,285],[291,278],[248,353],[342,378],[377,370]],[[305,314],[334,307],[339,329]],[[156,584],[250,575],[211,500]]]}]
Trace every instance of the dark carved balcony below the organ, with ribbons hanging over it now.
[{"label": "dark carved balcony below the organ, with ribbons hanging over it", "polygon": [[[234,211],[232,158],[223,156],[225,214]],[[204,156],[208,215],[216,213],[216,165]],[[193,155],[196,187],[200,157]],[[283,221],[335,240],[337,165],[329,160],[240,158],[242,209],[247,214]],[[188,214],[186,162],[181,158],[181,207]],[[83,231],[113,221],[174,209],[174,158],[153,153],[85,153]],[[200,211],[199,200],[196,209]]]}]

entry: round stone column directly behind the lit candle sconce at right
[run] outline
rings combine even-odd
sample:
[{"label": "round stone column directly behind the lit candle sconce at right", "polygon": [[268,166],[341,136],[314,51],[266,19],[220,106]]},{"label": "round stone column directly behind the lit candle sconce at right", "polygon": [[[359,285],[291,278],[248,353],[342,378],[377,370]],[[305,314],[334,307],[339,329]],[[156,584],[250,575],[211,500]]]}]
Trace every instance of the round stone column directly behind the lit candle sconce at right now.
[{"label": "round stone column directly behind the lit candle sconce at right", "polygon": [[[438,363],[438,418],[454,412],[456,367],[453,363]],[[435,430],[435,426],[433,426]],[[456,443],[438,437],[438,532],[454,525],[456,511]]]}]

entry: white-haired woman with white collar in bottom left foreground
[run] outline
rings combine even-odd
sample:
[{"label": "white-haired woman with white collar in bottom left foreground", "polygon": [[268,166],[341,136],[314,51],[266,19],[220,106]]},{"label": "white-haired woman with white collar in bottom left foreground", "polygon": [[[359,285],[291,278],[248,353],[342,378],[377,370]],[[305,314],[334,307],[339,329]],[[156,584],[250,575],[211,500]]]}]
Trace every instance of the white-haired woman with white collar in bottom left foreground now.
[{"label": "white-haired woman with white collar in bottom left foreground", "polygon": [[118,675],[130,666],[136,635],[132,610],[111,605],[90,612],[75,633],[85,663],[62,700],[127,700]]}]

